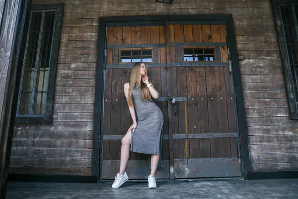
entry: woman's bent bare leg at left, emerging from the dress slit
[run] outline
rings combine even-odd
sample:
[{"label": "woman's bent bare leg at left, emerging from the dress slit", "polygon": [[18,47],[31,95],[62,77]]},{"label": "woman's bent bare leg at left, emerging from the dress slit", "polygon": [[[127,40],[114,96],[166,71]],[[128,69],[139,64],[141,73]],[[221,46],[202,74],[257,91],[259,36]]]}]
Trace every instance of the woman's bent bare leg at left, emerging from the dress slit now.
[{"label": "woman's bent bare leg at left, emerging from the dress slit", "polygon": [[125,172],[127,161],[129,158],[131,142],[132,142],[132,132],[128,131],[121,140],[121,157],[120,157],[120,171],[119,171],[120,175],[123,175]]}]

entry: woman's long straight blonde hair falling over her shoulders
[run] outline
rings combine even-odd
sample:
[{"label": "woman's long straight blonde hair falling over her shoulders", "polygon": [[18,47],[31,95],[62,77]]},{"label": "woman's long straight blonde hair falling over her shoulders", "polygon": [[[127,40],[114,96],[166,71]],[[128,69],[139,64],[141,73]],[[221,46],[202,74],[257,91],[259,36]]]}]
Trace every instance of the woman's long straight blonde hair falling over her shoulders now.
[{"label": "woman's long straight blonde hair falling over her shoulders", "polygon": [[[142,77],[141,77],[141,64],[144,62],[137,62],[134,64],[133,68],[132,68],[132,72],[131,72],[131,76],[130,76],[130,84],[129,84],[129,89],[128,89],[128,99],[127,99],[127,103],[128,105],[133,105],[133,90],[136,87],[136,89],[138,90],[141,87],[141,97],[142,100],[149,100],[151,102],[153,102],[151,100],[151,94],[150,91],[148,89],[148,87],[146,86],[146,84],[143,83],[142,81]],[[146,66],[146,74],[147,75],[147,64],[144,63]]]}]

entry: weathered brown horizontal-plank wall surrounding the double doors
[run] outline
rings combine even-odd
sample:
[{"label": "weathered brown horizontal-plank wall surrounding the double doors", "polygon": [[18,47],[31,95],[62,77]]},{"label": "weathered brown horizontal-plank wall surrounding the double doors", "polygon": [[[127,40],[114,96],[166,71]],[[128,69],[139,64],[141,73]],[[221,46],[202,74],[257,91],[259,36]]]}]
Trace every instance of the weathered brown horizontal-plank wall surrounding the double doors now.
[{"label": "weathered brown horizontal-plank wall surrounding the double doors", "polygon": [[[53,123],[16,125],[11,173],[91,174],[98,17],[232,14],[252,171],[298,169],[298,121],[290,120],[270,0],[33,0],[65,3]],[[99,35],[100,36],[100,35]]]}]

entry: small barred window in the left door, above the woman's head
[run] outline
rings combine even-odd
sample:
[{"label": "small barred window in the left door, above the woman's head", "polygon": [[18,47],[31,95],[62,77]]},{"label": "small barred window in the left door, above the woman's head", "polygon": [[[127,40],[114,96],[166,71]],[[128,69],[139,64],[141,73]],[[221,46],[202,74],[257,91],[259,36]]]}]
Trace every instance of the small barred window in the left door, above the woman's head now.
[{"label": "small barred window in the left door, above the woman's head", "polygon": [[153,49],[121,49],[120,63],[147,62],[152,63]]}]

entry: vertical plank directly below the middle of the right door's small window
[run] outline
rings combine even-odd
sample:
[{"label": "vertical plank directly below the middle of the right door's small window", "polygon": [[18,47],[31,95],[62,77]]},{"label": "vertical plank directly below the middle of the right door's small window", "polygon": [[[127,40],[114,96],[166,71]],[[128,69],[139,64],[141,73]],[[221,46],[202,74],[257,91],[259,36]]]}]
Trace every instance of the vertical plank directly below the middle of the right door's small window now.
[{"label": "vertical plank directly below the middle of the right door's small window", "polygon": [[[205,68],[196,68],[198,132],[209,132]],[[210,139],[200,139],[200,158],[210,158]]]}]

